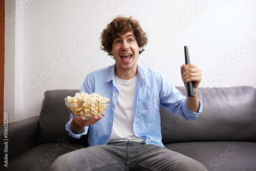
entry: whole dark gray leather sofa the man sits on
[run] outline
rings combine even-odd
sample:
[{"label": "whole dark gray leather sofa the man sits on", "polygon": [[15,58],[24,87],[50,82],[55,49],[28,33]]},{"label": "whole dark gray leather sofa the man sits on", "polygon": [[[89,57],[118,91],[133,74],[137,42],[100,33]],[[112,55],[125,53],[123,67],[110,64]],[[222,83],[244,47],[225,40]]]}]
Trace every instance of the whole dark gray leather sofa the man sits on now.
[{"label": "whole dark gray leather sofa the man sits on", "polygon": [[[8,124],[8,169],[3,163],[4,126],[0,126],[0,170],[49,170],[58,156],[88,146],[86,135],[77,140],[65,130],[69,113],[63,99],[78,91],[46,91],[39,116]],[[195,121],[161,108],[164,145],[208,170],[256,170],[256,89],[198,88],[198,96],[203,113]]]}]

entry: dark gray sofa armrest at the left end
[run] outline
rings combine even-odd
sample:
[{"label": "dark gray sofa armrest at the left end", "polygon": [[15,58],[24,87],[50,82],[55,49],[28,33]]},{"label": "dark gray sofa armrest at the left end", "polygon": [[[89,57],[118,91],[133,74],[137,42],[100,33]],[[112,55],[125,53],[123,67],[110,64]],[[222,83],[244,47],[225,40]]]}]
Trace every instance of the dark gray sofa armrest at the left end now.
[{"label": "dark gray sofa armrest at the left end", "polygon": [[[39,116],[30,117],[16,122],[8,123],[8,137],[4,137],[6,126],[0,125],[0,149],[1,158],[8,154],[8,159],[19,155],[34,147],[37,143]],[[4,141],[7,139],[7,141]],[[4,142],[7,142],[4,144]],[[7,146],[6,146],[7,145]],[[3,160],[1,160],[1,163]]]}]

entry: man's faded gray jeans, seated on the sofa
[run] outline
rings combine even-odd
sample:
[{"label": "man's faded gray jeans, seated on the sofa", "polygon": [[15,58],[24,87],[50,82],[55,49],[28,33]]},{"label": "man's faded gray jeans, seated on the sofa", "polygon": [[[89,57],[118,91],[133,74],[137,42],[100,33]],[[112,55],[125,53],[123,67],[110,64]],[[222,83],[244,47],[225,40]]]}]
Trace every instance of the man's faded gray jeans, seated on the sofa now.
[{"label": "man's faded gray jeans, seated on the sofa", "polygon": [[53,170],[207,170],[200,162],[168,148],[134,141],[77,149],[58,157]]}]

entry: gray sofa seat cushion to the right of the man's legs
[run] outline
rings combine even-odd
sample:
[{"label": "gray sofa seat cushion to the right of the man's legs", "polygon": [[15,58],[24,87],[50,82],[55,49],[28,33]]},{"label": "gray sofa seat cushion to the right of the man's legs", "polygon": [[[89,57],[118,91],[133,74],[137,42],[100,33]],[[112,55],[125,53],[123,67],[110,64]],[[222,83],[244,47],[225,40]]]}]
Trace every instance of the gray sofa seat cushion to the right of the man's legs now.
[{"label": "gray sofa seat cushion to the right of the man's legs", "polygon": [[201,162],[209,171],[256,168],[255,142],[183,142],[165,147]]}]

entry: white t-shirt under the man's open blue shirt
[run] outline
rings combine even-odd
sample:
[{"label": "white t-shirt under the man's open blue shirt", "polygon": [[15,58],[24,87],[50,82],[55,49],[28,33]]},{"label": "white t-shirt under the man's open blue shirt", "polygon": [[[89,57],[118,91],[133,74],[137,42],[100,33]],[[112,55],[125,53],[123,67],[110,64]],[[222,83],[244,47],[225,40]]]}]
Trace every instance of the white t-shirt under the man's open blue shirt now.
[{"label": "white t-shirt under the man's open blue shirt", "polygon": [[142,137],[136,137],[133,131],[134,97],[137,75],[130,80],[123,80],[115,76],[116,88],[119,92],[110,141],[144,142]]}]

